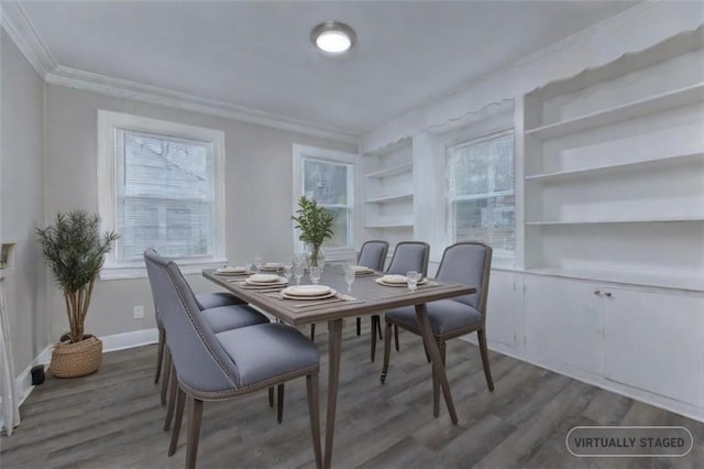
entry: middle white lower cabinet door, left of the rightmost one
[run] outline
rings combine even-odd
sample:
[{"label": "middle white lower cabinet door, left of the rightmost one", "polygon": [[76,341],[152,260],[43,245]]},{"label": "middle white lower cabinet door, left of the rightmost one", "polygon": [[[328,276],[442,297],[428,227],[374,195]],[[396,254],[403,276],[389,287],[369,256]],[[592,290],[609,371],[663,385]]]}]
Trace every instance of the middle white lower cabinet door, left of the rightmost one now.
[{"label": "middle white lower cabinet door, left of the rightmost one", "polygon": [[596,287],[554,277],[525,279],[526,355],[564,371],[601,373],[602,312]]}]

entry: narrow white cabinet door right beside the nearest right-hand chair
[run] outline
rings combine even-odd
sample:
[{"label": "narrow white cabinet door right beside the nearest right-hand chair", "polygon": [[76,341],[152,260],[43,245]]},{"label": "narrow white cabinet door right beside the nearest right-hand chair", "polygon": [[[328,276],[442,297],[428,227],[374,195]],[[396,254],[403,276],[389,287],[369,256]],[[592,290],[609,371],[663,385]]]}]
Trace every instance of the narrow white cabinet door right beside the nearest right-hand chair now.
[{"label": "narrow white cabinet door right beside the nearest right-hand chair", "polygon": [[515,274],[492,271],[486,299],[486,339],[490,342],[516,347]]}]

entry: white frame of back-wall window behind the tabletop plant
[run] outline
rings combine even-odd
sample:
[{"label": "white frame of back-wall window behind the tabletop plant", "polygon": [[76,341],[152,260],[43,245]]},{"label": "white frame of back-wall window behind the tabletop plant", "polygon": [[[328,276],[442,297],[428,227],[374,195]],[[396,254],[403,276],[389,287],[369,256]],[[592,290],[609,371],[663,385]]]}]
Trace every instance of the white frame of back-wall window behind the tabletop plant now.
[{"label": "white frame of back-wall window behind the tabletop plant", "polygon": [[[353,153],[340,152],[334,150],[320,149],[317,146],[307,146],[294,144],[294,185],[293,185],[293,214],[298,210],[298,200],[304,195],[304,162],[321,161],[328,163],[346,164],[351,166],[351,171],[348,173],[348,206],[350,207],[350,223],[348,227],[348,246],[345,248],[324,248],[326,262],[329,261],[343,261],[355,257],[355,239],[356,231],[360,226],[359,210],[356,207],[356,188],[359,186],[359,168],[356,164],[358,155]],[[292,225],[293,227],[293,225]],[[304,243],[298,239],[299,230],[293,229],[294,236],[294,251],[302,252]]]}]

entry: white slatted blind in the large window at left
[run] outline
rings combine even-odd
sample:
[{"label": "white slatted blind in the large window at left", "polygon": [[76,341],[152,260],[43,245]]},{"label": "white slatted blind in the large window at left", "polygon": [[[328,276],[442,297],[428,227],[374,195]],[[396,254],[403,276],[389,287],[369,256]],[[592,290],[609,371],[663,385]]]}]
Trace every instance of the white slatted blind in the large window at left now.
[{"label": "white slatted blind in the large window at left", "polygon": [[117,259],[213,255],[212,143],[124,129],[116,142]]}]

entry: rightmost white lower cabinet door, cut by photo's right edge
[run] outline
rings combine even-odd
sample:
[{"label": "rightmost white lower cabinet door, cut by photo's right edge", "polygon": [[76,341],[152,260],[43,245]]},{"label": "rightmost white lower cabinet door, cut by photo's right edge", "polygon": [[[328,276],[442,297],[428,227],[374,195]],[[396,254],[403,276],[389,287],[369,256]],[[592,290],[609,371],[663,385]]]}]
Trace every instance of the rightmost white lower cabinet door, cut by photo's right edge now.
[{"label": "rightmost white lower cabinet door, cut by photo's right edge", "polygon": [[704,407],[704,298],[607,292],[604,378]]}]

